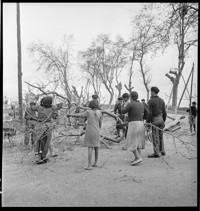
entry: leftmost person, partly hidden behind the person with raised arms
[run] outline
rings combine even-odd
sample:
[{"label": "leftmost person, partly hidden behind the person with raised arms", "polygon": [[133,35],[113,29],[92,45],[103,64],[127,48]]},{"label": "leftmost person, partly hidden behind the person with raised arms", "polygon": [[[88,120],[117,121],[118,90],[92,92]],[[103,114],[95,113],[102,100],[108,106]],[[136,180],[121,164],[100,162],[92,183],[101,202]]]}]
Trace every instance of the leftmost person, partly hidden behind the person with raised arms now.
[{"label": "leftmost person, partly hidden behind the person with raised arms", "polygon": [[32,110],[31,106],[36,105],[35,102],[30,102],[29,107],[26,108],[24,119],[25,119],[25,136],[24,136],[24,144],[25,146],[29,145],[30,139],[31,139],[31,145],[34,144],[34,136],[33,136],[33,130],[35,128],[35,124],[37,121],[37,115],[36,111]]}]

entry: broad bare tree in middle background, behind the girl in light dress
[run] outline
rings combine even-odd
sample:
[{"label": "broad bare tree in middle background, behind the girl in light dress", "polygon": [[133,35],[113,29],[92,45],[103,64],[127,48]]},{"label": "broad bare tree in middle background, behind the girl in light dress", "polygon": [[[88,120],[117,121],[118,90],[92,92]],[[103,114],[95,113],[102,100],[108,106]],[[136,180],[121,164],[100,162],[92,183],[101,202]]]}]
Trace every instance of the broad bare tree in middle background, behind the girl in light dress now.
[{"label": "broad bare tree in middle background, behind the girl in light dress", "polygon": [[100,34],[87,51],[81,52],[85,60],[82,69],[89,75],[96,93],[101,83],[104,85],[110,94],[109,105],[114,97],[114,78],[116,87],[120,90],[118,78],[127,63],[125,45],[125,41],[119,35],[113,42],[108,35]]}]

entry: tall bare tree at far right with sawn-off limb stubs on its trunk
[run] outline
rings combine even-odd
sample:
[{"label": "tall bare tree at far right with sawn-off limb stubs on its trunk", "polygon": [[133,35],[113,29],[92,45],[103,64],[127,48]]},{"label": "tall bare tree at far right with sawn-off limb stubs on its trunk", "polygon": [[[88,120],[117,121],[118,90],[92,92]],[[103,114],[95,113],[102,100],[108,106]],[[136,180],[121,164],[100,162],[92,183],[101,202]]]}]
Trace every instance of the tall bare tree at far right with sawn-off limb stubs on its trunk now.
[{"label": "tall bare tree at far right with sawn-off limb stubs on its trunk", "polygon": [[194,3],[171,3],[169,4],[168,34],[174,39],[178,50],[177,71],[170,71],[166,76],[173,84],[172,107],[176,110],[178,98],[178,85],[185,66],[185,58],[191,46],[198,42],[198,4]]}]

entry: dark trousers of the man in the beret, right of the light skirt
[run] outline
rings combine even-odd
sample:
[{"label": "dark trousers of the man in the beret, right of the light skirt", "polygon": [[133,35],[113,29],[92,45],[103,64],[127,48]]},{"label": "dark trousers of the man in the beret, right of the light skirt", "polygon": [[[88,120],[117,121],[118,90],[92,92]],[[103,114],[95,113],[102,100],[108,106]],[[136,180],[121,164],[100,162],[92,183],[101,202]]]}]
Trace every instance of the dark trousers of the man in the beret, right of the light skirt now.
[{"label": "dark trousers of the man in the beret, right of the light skirt", "polygon": [[[153,118],[152,122],[152,139],[153,139],[153,148],[154,154],[160,155],[164,152],[164,140],[163,140],[163,131],[165,123],[162,116],[157,116]],[[154,127],[155,126],[155,127]]]}]

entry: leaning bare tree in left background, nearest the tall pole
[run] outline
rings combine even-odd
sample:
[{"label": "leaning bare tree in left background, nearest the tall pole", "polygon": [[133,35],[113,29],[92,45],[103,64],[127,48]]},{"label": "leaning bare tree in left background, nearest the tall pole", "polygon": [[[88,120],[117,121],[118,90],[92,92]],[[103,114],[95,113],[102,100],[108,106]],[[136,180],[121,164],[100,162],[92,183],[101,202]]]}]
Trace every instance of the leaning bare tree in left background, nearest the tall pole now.
[{"label": "leaning bare tree in left background, nearest the tall pole", "polygon": [[37,56],[37,70],[44,69],[57,81],[69,100],[72,98],[72,91],[69,85],[69,73],[72,66],[73,35],[64,35],[62,46],[57,49],[50,44],[43,42],[32,43],[28,48],[32,56]]}]

